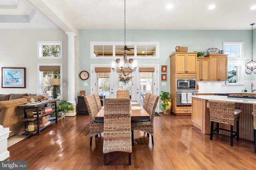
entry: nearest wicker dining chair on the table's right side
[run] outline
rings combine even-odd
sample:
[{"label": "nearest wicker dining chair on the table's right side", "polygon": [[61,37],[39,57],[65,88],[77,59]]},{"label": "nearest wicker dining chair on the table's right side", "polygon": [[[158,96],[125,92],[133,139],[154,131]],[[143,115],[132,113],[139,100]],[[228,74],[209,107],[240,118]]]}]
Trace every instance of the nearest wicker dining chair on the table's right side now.
[{"label": "nearest wicker dining chair on the table's right side", "polygon": [[155,111],[156,111],[156,105],[158,103],[159,96],[150,94],[148,98],[148,105],[146,108],[144,108],[148,114],[150,115],[150,120],[148,121],[132,121],[132,147],[134,146],[133,144],[133,134],[134,130],[138,131],[144,131],[147,133],[147,136],[149,137],[149,134],[151,135],[151,140],[152,140],[152,145],[154,145],[154,116],[155,116]]}]

